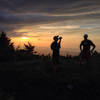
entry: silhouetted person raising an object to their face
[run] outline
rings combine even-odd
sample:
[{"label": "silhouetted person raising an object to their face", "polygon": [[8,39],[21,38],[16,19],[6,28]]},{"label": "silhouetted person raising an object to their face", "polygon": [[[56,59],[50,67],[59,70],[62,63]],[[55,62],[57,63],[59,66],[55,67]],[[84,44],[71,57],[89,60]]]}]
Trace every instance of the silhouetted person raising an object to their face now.
[{"label": "silhouetted person raising an object to their face", "polygon": [[59,50],[61,48],[61,39],[62,37],[54,36],[53,42],[51,44],[51,50],[53,51],[52,54],[52,61],[53,64],[59,64]]}]

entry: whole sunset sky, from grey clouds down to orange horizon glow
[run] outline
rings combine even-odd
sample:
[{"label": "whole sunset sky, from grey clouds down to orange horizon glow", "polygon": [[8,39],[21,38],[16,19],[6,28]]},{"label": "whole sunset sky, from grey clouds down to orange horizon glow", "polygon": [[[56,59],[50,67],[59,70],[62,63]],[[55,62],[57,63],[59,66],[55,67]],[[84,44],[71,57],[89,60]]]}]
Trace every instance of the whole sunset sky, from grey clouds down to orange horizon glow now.
[{"label": "whole sunset sky, from grey clouds down to orange horizon glow", "polygon": [[15,46],[31,42],[40,54],[50,53],[53,36],[60,35],[63,55],[78,53],[87,33],[100,51],[100,1],[0,0],[0,31]]}]

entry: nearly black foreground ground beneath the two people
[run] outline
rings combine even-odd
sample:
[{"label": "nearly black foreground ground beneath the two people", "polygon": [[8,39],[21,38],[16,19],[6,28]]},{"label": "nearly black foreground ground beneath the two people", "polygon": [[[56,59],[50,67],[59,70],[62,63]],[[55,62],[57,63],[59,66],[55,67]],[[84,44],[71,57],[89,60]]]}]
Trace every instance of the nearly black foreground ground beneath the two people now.
[{"label": "nearly black foreground ground beneath the two people", "polygon": [[99,100],[100,57],[89,66],[63,60],[56,66],[49,60],[0,64],[0,100]]}]

